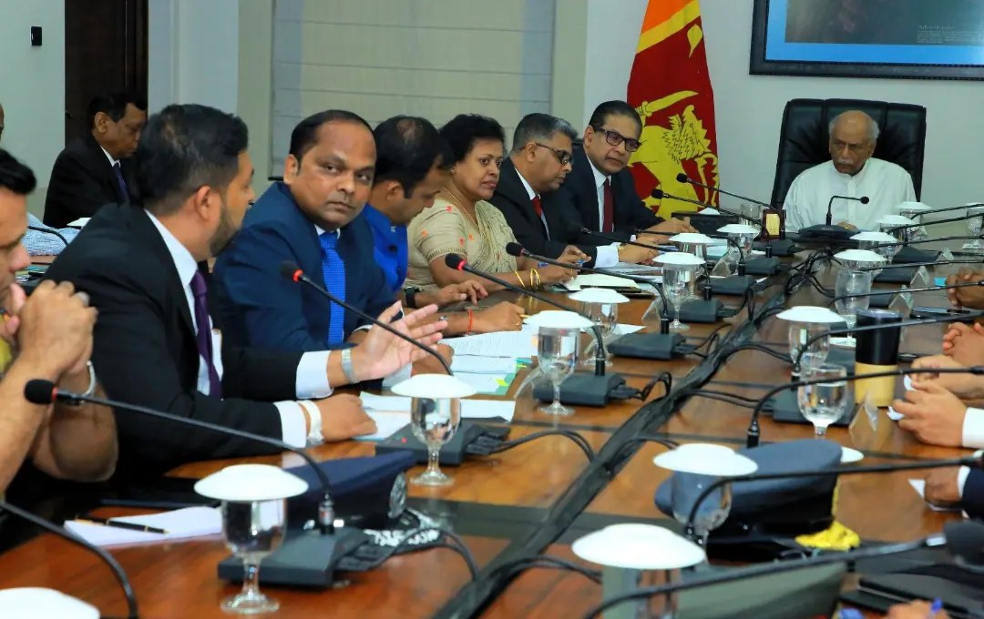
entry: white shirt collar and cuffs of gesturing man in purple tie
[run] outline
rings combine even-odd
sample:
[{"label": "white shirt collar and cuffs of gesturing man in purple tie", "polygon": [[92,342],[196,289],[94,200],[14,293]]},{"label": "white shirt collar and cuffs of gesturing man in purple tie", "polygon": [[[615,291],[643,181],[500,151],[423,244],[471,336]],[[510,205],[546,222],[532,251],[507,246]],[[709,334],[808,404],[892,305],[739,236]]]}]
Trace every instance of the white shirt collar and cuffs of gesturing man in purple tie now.
[{"label": "white shirt collar and cuffs of gesturing man in purple tie", "polygon": [[[188,249],[181,244],[177,238],[171,234],[170,230],[164,227],[153,214],[147,212],[147,216],[154,222],[157,232],[167,246],[167,252],[171,254],[174,266],[178,271],[178,279],[184,287],[185,300],[188,303],[188,310],[191,312],[192,324],[198,332],[198,323],[195,316],[195,301],[191,292],[191,280],[198,271],[198,262]],[[211,322],[211,318],[210,318]],[[211,328],[212,331],[212,350],[217,354],[213,355],[213,365],[219,379],[222,377],[222,338],[221,334]],[[296,394],[299,399],[326,398],[332,395],[332,387],[328,384],[328,357],[330,351],[316,353],[304,353],[300,363],[297,364]],[[205,358],[199,355],[198,358],[198,390],[209,395],[211,389],[209,384],[209,367],[205,363]],[[307,415],[304,409],[297,402],[283,401],[275,402],[274,406],[280,414],[280,428],[283,434],[283,442],[291,447],[304,447],[308,444],[306,431]]]}]

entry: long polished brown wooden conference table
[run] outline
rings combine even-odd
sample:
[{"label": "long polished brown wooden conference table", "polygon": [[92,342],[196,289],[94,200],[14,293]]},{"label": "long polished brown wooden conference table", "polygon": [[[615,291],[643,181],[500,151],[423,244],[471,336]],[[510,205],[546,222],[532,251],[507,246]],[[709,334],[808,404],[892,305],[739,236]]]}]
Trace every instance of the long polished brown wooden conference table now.
[{"label": "long polished brown wooden conference table", "polygon": [[[805,255],[805,254],[801,254]],[[830,274],[821,274],[830,282]],[[827,305],[809,286],[789,297],[785,276],[758,294],[755,311],[779,306]],[[897,287],[897,286],[896,286]],[[563,297],[558,296],[563,301]],[[726,304],[737,305],[738,299]],[[531,311],[549,309],[536,302],[519,301]],[[647,300],[634,300],[619,310],[619,321],[642,324]],[[946,305],[942,294],[924,295],[917,305]],[[603,409],[578,407],[574,416],[553,419],[536,409],[528,390],[517,400],[511,438],[544,428],[579,432],[598,451],[593,465],[571,441],[548,436],[491,457],[471,458],[458,468],[446,468],[455,482],[445,488],[410,485],[412,507],[436,518],[461,535],[482,573],[469,585],[461,557],[446,548],[400,554],[381,567],[346,576],[346,581],[327,591],[298,591],[266,587],[281,606],[277,616],[432,617],[482,616],[580,617],[601,601],[601,587],[583,576],[556,570],[529,570],[505,584],[504,589],[487,576],[491,568],[530,554],[545,553],[576,560],[571,542],[604,526],[625,522],[652,523],[676,528],[659,512],[653,494],[667,472],[652,458],[666,448],[660,444],[633,443],[627,456],[613,460],[627,439],[640,434],[657,435],[677,442],[713,442],[738,448],[744,444],[750,420],[748,409],[692,397],[675,402],[680,390],[702,384],[746,397],[759,397],[769,387],[788,381],[790,367],[761,351],[738,352],[718,359],[722,350],[743,342],[763,343],[787,352],[786,325],[775,317],[756,329],[742,310],[717,324],[692,324],[686,336],[693,342],[719,329],[713,352],[704,359],[689,356],[671,362],[615,359],[611,371],[622,373],[629,384],[644,386],[661,372],[673,376],[670,397],[657,385],[642,403],[615,402]],[[908,329],[902,350],[917,354],[939,351],[943,327],[939,324]],[[707,352],[707,351],[705,351]],[[515,398],[522,375],[507,398]],[[488,397],[488,396],[480,396]],[[763,442],[808,438],[813,428],[805,424],[772,422],[762,418]],[[950,458],[966,450],[928,446],[885,422],[879,436],[859,436],[846,428],[831,428],[830,440],[860,449],[865,464],[911,459]],[[347,441],[312,450],[318,459],[366,456],[371,443]],[[298,464],[295,456],[261,457],[189,464],[172,476],[201,478],[240,462]],[[614,465],[611,474],[606,465]],[[420,468],[412,471],[416,474]],[[836,518],[865,541],[915,540],[942,530],[953,514],[929,509],[913,491],[908,478],[916,473],[840,478]],[[103,509],[103,516],[124,513]],[[142,617],[219,617],[220,601],[239,589],[219,581],[215,566],[228,555],[220,537],[182,543],[123,547],[112,554],[129,575],[140,603]],[[597,567],[597,566],[590,566]],[[125,616],[126,606],[109,570],[90,553],[54,535],[37,535],[0,555],[0,588],[47,587],[64,591],[96,605],[106,616]],[[872,615],[874,616],[874,615]]]}]

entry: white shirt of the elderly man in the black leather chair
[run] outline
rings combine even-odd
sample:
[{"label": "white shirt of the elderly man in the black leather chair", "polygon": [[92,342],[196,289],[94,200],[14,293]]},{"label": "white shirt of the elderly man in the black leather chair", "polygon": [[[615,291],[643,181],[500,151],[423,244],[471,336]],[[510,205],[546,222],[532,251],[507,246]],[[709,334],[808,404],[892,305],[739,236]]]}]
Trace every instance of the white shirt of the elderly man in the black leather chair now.
[{"label": "white shirt of the elderly man in the black leather chair", "polygon": [[830,223],[847,222],[858,230],[878,230],[880,217],[898,214],[895,206],[916,199],[912,177],[894,163],[872,157],[851,176],[837,172],[833,161],[827,161],[802,172],[789,187],[783,206],[786,230],[826,223],[832,196],[869,198],[867,204],[834,199],[830,206]]}]

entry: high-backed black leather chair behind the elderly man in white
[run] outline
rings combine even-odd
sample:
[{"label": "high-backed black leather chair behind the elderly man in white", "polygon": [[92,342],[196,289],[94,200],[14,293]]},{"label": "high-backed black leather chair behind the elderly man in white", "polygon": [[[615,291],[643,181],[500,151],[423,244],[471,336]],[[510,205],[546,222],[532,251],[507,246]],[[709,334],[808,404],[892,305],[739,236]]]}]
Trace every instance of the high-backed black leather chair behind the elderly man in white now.
[{"label": "high-backed black leather chair behind the elderly man in white", "polygon": [[781,204],[800,172],[830,161],[830,121],[841,112],[861,110],[881,129],[875,155],[905,168],[916,197],[922,195],[926,149],[926,108],[909,103],[856,99],[793,99],[786,103],[779,132],[772,203]]}]

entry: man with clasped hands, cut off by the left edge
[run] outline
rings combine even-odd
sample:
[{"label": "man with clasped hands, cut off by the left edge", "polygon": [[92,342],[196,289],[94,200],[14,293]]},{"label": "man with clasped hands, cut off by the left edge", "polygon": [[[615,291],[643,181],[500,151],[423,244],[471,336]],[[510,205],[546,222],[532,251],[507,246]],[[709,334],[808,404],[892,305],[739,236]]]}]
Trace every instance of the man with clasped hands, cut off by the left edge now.
[{"label": "man with clasped hands, cut off by the left edge", "polygon": [[[0,119],[2,122],[2,119]],[[54,478],[96,481],[116,466],[116,426],[100,406],[39,406],[24,397],[29,380],[102,396],[89,357],[95,310],[72,284],[42,282],[28,299],[14,279],[28,265],[21,245],[31,170],[0,150],[0,497],[30,461]]]}]

